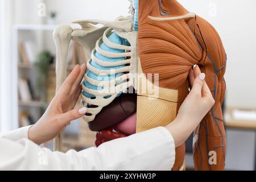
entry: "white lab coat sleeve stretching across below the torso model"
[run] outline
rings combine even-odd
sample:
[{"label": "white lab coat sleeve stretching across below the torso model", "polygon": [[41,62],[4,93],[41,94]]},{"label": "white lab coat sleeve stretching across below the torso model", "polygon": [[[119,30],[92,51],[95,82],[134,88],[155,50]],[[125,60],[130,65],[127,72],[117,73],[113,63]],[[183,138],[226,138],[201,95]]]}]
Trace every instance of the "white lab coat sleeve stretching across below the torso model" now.
[{"label": "white lab coat sleeve stretching across below the torso model", "polygon": [[0,170],[170,170],[175,161],[174,139],[165,127],[65,154],[8,136],[0,138]]}]

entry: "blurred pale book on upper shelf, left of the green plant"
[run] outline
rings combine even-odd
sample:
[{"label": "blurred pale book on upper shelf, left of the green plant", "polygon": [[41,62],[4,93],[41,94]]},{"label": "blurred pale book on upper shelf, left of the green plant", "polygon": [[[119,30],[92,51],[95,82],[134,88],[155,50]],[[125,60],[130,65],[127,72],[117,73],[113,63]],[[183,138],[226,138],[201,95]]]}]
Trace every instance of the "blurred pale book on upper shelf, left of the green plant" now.
[{"label": "blurred pale book on upper shelf, left of the green plant", "polygon": [[20,63],[33,64],[36,58],[35,45],[24,41],[19,43]]}]

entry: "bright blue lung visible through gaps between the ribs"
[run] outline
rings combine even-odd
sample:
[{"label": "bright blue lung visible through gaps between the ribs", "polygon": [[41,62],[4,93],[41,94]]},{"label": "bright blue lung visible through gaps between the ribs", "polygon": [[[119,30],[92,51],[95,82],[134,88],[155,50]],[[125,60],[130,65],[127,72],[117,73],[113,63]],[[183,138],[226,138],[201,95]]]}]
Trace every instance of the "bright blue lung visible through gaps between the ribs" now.
[{"label": "bright blue lung visible through gaps between the ribs", "polygon": [[[123,39],[121,37],[119,37],[117,34],[115,33],[112,33],[108,39],[115,43],[115,44],[119,44],[119,45],[124,45],[124,46],[130,46],[129,42],[126,40],[126,39]],[[113,49],[113,48],[110,48],[108,46],[106,46],[105,43],[102,43],[100,48],[104,51],[108,51],[108,52],[114,52],[114,53],[122,53],[122,52],[125,52],[125,50],[121,50],[121,49]],[[122,60],[125,60],[126,57],[118,57],[118,58],[110,58],[110,57],[106,57],[106,56],[103,56],[101,55],[100,53],[96,52],[95,53],[95,57],[97,57],[98,59],[102,60],[102,61],[107,61],[107,62],[117,62],[117,61],[122,61]],[[94,68],[98,68],[98,69],[103,69],[103,70],[110,70],[110,69],[117,69],[117,68],[122,68],[122,67],[125,67],[125,65],[121,65],[121,66],[117,66],[117,67],[102,67],[101,65],[97,64],[95,61],[91,61],[90,65],[92,65]],[[110,81],[110,80],[113,80],[114,78],[118,77],[118,76],[121,76],[122,73],[117,73],[115,75],[106,75],[106,76],[99,76],[99,75],[96,75],[95,73],[87,70],[85,72],[85,74],[94,79],[94,80],[98,80],[98,81]],[[89,88],[89,89],[93,89],[93,90],[101,90],[103,89],[102,87],[99,87],[97,85],[92,85],[90,84],[89,82],[87,81],[84,81],[83,82],[84,86],[86,88]],[[85,96],[85,97],[88,97],[88,98],[93,98],[95,96],[93,96],[92,94],[89,94],[87,92],[85,92],[84,90],[82,91],[82,94]],[[120,96],[121,93],[118,94],[118,96]],[[117,97],[118,97],[117,96]],[[108,98],[108,97],[106,97]]]}]

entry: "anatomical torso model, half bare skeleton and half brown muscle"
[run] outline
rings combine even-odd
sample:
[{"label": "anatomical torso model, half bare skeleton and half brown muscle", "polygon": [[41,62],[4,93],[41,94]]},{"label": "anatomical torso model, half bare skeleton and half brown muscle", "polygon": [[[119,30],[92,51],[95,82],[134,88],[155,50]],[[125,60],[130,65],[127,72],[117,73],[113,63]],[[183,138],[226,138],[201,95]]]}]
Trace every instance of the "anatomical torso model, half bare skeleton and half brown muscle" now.
[{"label": "anatomical torso model, half bare skeleton and half brown muscle", "polygon": [[[189,69],[197,64],[206,74],[216,104],[193,136],[195,168],[223,170],[226,141],[221,104],[226,53],[220,36],[206,20],[175,0],[134,0],[130,10],[130,16],[112,22],[81,20],[56,28],[57,89],[66,75],[69,42],[75,40],[91,55],[81,103],[88,107],[83,118],[91,130],[98,131],[99,146],[174,121],[189,92]],[[143,91],[145,86],[154,92]],[[60,139],[61,135],[55,139],[56,149]],[[183,144],[176,148],[173,170],[185,169],[184,155]]]}]

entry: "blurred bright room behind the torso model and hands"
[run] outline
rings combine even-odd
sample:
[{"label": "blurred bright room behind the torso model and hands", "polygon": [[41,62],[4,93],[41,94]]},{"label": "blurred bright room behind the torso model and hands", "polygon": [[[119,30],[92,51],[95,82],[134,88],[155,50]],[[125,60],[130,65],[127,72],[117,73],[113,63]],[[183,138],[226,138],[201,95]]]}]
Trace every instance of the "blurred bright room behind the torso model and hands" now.
[{"label": "blurred bright room behind the torso model and hands", "polygon": [[[226,169],[256,168],[256,1],[179,1],[218,31],[228,55],[224,105]],[[55,94],[55,44],[58,24],[78,19],[113,20],[128,15],[127,0],[0,0],[0,132],[38,121]],[[88,59],[71,43],[68,71]],[[65,130],[63,151],[94,145],[95,133],[82,121]],[[193,169],[192,142],[186,163]]]}]

